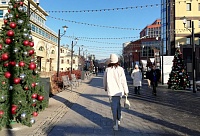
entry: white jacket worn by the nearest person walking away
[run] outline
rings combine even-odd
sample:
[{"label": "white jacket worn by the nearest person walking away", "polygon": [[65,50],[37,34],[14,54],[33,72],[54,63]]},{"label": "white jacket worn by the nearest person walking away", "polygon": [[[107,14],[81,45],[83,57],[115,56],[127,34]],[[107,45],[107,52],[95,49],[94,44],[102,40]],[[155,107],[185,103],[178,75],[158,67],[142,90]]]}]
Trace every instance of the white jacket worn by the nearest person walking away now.
[{"label": "white jacket worn by the nearest person walking away", "polygon": [[103,86],[107,90],[108,96],[123,96],[128,94],[128,85],[124,69],[118,67],[108,67],[104,72]]}]

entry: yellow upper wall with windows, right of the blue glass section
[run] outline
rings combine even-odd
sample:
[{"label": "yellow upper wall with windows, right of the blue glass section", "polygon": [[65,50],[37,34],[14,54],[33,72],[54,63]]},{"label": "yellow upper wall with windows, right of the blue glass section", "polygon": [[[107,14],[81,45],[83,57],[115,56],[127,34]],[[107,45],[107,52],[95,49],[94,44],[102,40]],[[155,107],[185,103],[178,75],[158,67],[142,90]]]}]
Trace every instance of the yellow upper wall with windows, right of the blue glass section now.
[{"label": "yellow upper wall with windows, right of the blue glass section", "polygon": [[[200,45],[200,1],[175,3],[175,47],[191,45],[192,21],[194,22],[194,44]],[[181,10],[180,10],[181,9]],[[183,17],[187,19],[183,24]]]}]

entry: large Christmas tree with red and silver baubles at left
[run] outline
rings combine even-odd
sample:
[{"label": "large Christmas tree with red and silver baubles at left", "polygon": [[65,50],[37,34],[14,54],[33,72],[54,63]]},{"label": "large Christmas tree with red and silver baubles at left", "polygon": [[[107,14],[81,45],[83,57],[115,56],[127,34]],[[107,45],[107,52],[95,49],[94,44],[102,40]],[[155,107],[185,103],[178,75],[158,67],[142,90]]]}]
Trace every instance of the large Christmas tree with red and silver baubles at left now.
[{"label": "large Christmas tree with red and silver baubles at left", "polygon": [[32,126],[47,100],[39,81],[24,0],[8,4],[0,30],[0,128],[12,121]]}]

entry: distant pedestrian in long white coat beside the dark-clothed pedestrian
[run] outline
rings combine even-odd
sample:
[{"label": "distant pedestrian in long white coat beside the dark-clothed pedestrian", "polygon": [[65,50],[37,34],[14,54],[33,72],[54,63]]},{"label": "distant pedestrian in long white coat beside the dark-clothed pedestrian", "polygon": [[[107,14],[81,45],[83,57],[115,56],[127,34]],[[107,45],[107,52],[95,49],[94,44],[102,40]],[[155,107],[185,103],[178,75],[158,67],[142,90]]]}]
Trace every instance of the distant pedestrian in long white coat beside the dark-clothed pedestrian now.
[{"label": "distant pedestrian in long white coat beside the dark-clothed pedestrian", "polygon": [[142,86],[142,72],[138,65],[135,65],[135,69],[131,73],[133,79],[133,86],[135,87],[135,94],[140,95],[140,87]]}]

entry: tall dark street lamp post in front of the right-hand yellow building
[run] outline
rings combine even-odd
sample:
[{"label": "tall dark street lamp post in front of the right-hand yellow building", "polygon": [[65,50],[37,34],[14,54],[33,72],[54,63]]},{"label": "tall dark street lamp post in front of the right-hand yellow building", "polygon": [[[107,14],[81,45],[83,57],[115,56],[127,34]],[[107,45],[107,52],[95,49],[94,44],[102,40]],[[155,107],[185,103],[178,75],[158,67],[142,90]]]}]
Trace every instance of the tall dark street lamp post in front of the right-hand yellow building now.
[{"label": "tall dark street lamp post in front of the right-hand yellow building", "polygon": [[[184,16],[183,17],[183,24],[184,27],[188,29],[187,26],[185,26],[187,24],[187,18]],[[191,34],[192,34],[192,82],[193,82],[193,93],[196,93],[196,62],[195,62],[195,55],[196,55],[196,51],[195,51],[195,44],[194,44],[194,21],[191,21],[191,29],[188,29]]]}]

